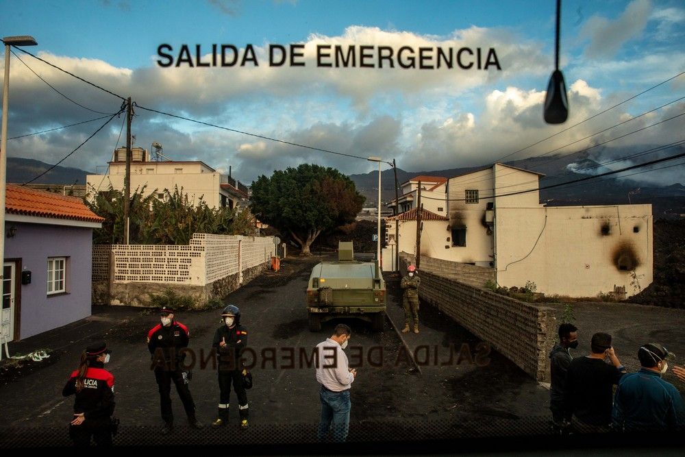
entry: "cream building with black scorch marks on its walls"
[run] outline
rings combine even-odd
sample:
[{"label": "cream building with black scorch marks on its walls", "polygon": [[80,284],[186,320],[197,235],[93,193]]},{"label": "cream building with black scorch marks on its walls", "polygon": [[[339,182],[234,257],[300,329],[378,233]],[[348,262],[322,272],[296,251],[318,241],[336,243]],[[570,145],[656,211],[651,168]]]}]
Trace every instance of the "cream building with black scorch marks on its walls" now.
[{"label": "cream building with black scorch marks on its walls", "polygon": [[[425,212],[421,255],[494,269],[500,286],[524,286],[570,297],[625,287],[634,295],[652,282],[651,205],[540,204],[540,173],[493,164],[449,178],[445,220]],[[447,198],[445,198],[447,197]],[[425,216],[427,217],[424,217]],[[416,254],[416,214],[386,219],[388,244]],[[413,225],[413,227],[412,227]]]}]

